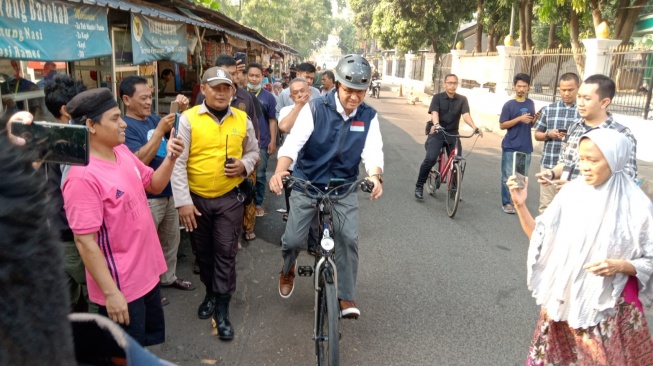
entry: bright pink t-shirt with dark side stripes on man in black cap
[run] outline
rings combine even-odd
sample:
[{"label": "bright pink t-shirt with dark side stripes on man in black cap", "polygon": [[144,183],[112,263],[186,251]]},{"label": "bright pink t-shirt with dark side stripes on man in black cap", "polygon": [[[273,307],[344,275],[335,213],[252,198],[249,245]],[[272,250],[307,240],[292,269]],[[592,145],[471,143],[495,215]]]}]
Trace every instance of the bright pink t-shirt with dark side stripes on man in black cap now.
[{"label": "bright pink t-shirt with dark side stripes on man in black cap", "polygon": [[[96,233],[113,280],[131,302],[151,291],[167,266],[145,196],[153,170],[125,145],[113,151],[116,162],[91,156],[88,166],[70,168],[63,185],[64,208],[75,234]],[[91,301],[105,305],[88,271],[86,280]]]}]

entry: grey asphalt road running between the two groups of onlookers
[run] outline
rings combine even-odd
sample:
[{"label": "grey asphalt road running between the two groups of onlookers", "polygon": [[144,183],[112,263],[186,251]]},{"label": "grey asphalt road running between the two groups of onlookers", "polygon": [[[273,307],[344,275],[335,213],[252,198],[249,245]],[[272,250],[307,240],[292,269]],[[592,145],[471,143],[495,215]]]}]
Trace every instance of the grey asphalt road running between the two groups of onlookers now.
[{"label": "grey asphalt road running between the two groups of onlookers", "polygon": [[[423,202],[413,197],[427,108],[389,92],[369,103],[379,112],[385,143],[384,195],[371,202],[359,193],[362,315],[340,322],[341,364],[523,365],[538,307],[526,288],[528,240],[517,217],[501,210],[500,137],[463,140],[464,156],[469,153],[463,201],[450,219],[443,192]],[[531,176],[539,157],[533,162]],[[271,160],[270,171],[274,165]],[[529,194],[536,212],[537,188]],[[219,341],[211,321],[197,318],[202,286],[164,290],[171,300],[165,307],[167,339],[152,352],[180,365],[315,363],[312,278],[297,278],[289,299],[278,294],[281,207],[282,197],[267,196],[258,238],[238,254],[231,303],[235,339]],[[182,252],[178,275],[201,285],[191,272],[187,240]],[[300,265],[311,258],[302,254]]]}]

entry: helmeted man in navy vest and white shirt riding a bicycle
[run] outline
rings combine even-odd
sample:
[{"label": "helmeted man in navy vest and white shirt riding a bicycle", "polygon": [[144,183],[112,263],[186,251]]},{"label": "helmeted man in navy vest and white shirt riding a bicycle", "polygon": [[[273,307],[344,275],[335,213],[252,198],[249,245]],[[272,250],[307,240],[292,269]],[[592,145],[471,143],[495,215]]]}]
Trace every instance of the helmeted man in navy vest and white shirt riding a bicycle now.
[{"label": "helmeted man in navy vest and white shirt riding a bicycle", "polygon": [[[371,68],[358,55],[344,56],[335,70],[336,87],[311,100],[299,112],[292,133],[279,150],[270,189],[281,194],[282,177],[294,161],[293,176],[308,180],[323,190],[334,179],[357,180],[361,160],[374,183],[371,198],[381,197],[383,188],[383,141],[376,110],[363,103]],[[358,272],[358,197],[350,195],[334,203],[344,218],[335,228],[338,298],[343,318],[358,318],[354,302]],[[294,289],[299,249],[306,245],[311,221],[317,212],[314,201],[303,191],[290,196],[286,230],[281,238],[284,265],[279,294],[288,298]]]}]

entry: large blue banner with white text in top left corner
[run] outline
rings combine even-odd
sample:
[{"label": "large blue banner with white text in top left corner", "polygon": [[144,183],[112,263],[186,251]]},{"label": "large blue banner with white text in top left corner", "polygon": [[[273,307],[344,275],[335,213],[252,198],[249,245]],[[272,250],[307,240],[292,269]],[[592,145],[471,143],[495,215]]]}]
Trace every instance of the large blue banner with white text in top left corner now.
[{"label": "large blue banner with white text in top left corner", "polygon": [[50,0],[0,1],[0,58],[76,61],[110,54],[105,8]]}]

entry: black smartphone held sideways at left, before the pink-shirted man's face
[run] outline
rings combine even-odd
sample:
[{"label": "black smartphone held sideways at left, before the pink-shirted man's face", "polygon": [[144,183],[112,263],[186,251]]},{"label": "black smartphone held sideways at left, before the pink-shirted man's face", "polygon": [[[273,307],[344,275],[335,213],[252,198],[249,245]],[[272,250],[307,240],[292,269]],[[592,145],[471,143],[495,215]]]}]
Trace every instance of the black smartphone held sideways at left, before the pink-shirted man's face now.
[{"label": "black smartphone held sideways at left, before the pink-shirted man's face", "polygon": [[25,139],[25,146],[49,163],[88,165],[89,133],[86,126],[35,121],[11,124],[11,134]]}]

